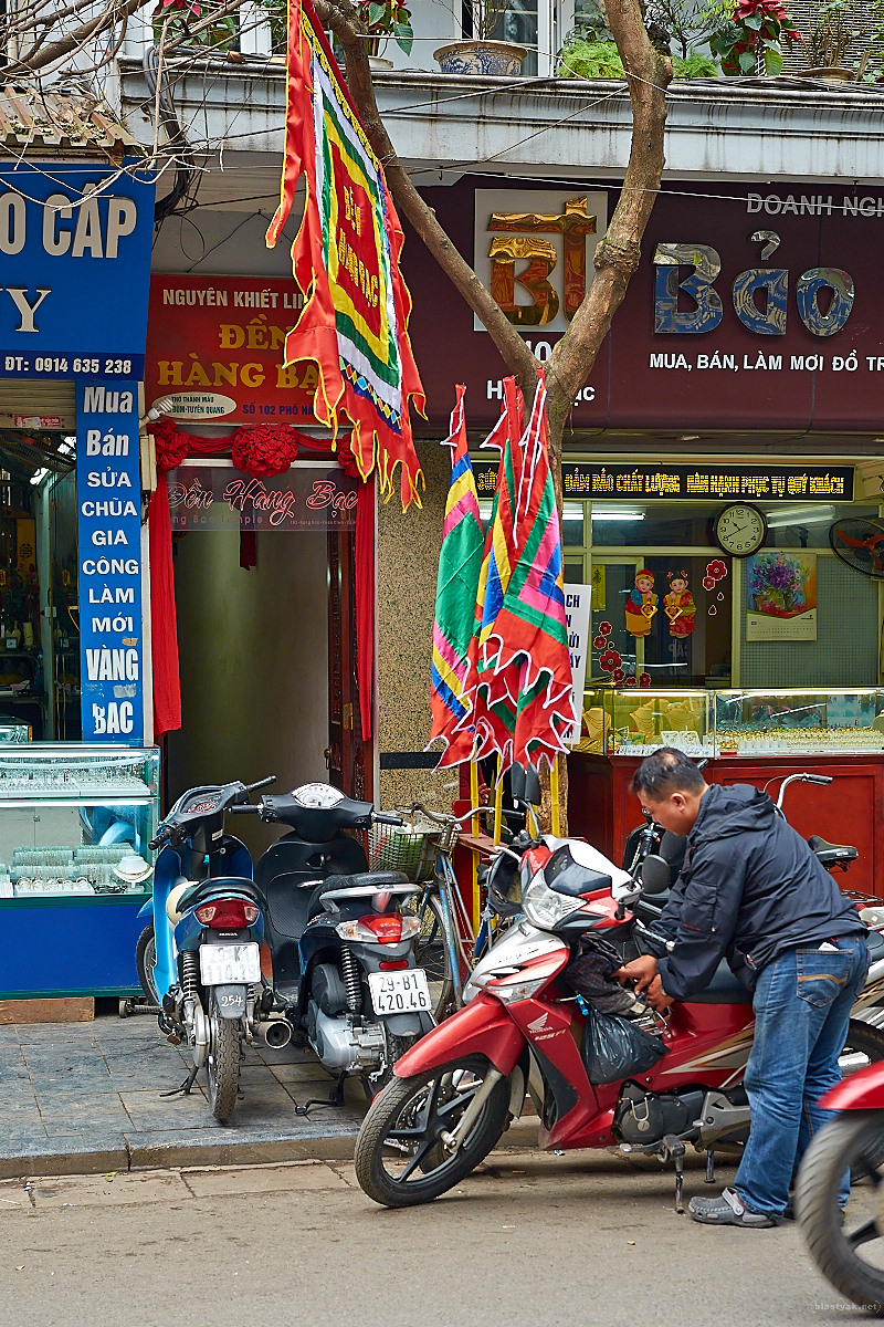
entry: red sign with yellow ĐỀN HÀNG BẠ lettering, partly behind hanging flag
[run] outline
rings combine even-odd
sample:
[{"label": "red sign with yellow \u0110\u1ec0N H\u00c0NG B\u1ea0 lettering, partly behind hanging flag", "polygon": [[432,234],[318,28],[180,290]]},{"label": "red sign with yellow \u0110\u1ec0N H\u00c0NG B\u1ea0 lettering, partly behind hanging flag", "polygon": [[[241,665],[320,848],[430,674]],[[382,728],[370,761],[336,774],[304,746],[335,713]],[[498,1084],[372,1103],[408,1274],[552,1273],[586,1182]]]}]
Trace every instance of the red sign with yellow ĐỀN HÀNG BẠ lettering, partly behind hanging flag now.
[{"label": "red sign with yellow \u0110\u1ec0N H\u00c0NG B\u1ea0 lettering, partly behind hanging flag", "polygon": [[282,362],[301,307],[293,277],[151,277],[147,405],[168,398],[191,423],[313,421],[315,364]]}]

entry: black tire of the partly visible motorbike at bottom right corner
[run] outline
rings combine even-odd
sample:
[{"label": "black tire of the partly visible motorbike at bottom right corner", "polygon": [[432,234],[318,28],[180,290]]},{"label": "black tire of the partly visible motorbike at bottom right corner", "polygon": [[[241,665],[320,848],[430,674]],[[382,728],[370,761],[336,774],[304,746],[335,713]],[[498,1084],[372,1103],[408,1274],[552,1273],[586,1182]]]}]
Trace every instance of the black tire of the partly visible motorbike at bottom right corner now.
[{"label": "black tire of the partly visible motorbike at bottom right corner", "polygon": [[801,1231],[822,1274],[865,1312],[884,1316],[884,1273],[863,1263],[842,1226],[838,1193],[848,1156],[864,1135],[877,1144],[884,1129],[880,1112],[847,1112],[811,1143],[801,1168],[795,1206]]}]

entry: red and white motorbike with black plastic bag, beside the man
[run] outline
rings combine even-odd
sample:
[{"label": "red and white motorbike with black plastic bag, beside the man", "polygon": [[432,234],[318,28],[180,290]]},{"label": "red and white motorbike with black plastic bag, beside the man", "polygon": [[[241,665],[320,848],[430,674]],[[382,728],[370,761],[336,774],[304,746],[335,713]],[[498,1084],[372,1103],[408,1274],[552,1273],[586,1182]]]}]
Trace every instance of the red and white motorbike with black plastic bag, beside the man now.
[{"label": "red and white motorbike with black plastic bag, beside the man", "polygon": [[[488,888],[498,898],[521,893],[521,918],[473,969],[464,1009],[398,1060],[372,1101],[357,1141],[359,1184],[390,1208],[437,1198],[484,1160],[530,1096],[541,1148],[619,1145],[673,1160],[681,1210],[685,1145],[706,1153],[712,1182],[716,1149],[738,1149],[747,1136],[751,997],[722,963],[708,990],[672,1006],[659,1039],[641,1032],[656,1043],[651,1067],[600,1082],[598,1014],[563,973],[591,933],[624,959],[635,955],[636,933],[652,928],[630,906],[643,889],[668,888],[668,864],[648,856],[636,881],[582,840],[521,836],[513,849],[502,851]],[[884,994],[881,950],[854,1013]],[[883,1059],[884,1034],[851,1020],[846,1055],[851,1067]]]}]

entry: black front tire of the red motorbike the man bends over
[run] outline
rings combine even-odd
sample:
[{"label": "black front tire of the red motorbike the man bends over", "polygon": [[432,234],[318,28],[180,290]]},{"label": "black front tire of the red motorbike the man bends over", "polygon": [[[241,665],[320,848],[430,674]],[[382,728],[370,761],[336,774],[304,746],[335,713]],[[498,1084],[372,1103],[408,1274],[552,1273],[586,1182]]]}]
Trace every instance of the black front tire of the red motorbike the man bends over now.
[{"label": "black front tire of the red motorbike the man bends over", "polygon": [[485,1160],[508,1124],[510,1099],[508,1079],[501,1079],[496,1084],[469,1141],[461,1148],[457,1157],[444,1166],[443,1173],[436,1180],[432,1178],[431,1172],[423,1180],[399,1185],[390,1178],[383,1166],[383,1141],[387,1131],[415,1092],[443,1074],[470,1068],[484,1074],[488,1071],[489,1063],[481,1056],[468,1056],[451,1060],[436,1070],[416,1074],[408,1079],[394,1078],[374,1099],[359,1129],[354,1154],[357,1180],[374,1202],[384,1208],[412,1208],[421,1202],[431,1202],[453,1189]]}]

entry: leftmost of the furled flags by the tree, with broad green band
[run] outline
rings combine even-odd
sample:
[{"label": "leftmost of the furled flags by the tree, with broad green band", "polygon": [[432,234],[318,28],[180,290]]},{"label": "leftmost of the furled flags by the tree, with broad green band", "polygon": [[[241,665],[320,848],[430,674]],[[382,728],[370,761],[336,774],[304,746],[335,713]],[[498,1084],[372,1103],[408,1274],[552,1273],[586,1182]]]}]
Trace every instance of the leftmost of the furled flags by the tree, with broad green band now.
[{"label": "leftmost of the furled flags by the tree, with broad green band", "polygon": [[451,484],[445,503],[445,524],[436,581],[433,621],[432,730],[429,743],[443,740],[440,768],[469,760],[473,734],[465,695],[467,653],[473,634],[473,605],[482,561],[484,535],[478,516],[478,495],[467,451],[464,386],[451,414],[451,434],[443,447],[451,447]]}]

